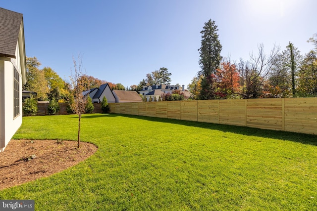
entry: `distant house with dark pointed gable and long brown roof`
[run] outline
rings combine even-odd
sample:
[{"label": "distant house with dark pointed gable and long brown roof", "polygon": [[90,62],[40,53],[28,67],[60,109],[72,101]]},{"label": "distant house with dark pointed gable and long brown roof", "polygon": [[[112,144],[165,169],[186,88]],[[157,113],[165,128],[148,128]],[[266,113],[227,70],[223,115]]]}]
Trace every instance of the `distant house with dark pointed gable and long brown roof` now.
[{"label": "distant house with dark pointed gable and long brown roof", "polygon": [[142,102],[142,98],[136,91],[111,90],[109,84],[102,84],[99,88],[92,88],[83,94],[92,98],[93,103],[101,103],[104,96],[108,103]]}]

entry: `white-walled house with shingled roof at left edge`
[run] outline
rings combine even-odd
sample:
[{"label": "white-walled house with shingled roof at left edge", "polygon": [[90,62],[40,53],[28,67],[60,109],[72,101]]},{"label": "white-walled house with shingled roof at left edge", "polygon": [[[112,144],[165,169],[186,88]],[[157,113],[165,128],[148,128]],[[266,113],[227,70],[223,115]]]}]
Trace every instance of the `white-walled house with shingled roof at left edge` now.
[{"label": "white-walled house with shingled roof at left edge", "polygon": [[26,84],[23,15],[0,8],[0,152],[22,124]]}]

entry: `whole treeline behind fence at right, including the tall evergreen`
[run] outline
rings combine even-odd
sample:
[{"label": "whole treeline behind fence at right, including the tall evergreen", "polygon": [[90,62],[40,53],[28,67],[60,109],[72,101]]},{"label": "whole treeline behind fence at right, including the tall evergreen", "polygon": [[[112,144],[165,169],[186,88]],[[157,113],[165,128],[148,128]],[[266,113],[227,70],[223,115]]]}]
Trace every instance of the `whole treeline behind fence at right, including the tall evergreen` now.
[{"label": "whole treeline behind fence at right, including the tall evergreen", "polygon": [[268,54],[259,44],[256,54],[237,63],[220,55],[217,31],[211,20],[201,31],[201,71],[187,86],[197,99],[317,97],[317,34],[308,41],[315,49],[305,55],[292,42]]}]

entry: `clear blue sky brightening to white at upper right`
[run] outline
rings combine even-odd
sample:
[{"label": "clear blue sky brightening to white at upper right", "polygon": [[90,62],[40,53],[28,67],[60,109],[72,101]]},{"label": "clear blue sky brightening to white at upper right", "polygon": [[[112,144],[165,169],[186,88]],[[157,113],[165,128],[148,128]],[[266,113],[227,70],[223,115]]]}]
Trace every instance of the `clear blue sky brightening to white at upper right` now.
[{"label": "clear blue sky brightening to white at upper right", "polygon": [[87,75],[125,87],[165,67],[171,84],[189,84],[200,70],[200,32],[218,26],[221,55],[249,59],[259,43],[301,54],[317,33],[317,0],[1,0],[23,13],[26,56],[70,76],[83,55]]}]

